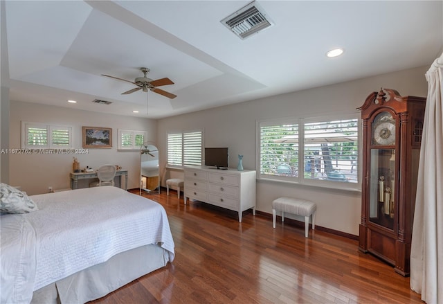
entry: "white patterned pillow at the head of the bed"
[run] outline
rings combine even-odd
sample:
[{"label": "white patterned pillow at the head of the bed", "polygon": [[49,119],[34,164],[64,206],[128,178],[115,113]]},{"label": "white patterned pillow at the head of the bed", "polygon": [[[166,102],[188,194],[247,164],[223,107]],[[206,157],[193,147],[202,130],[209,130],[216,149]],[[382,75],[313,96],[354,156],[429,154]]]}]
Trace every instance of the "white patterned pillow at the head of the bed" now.
[{"label": "white patterned pillow at the head of the bed", "polygon": [[38,210],[35,202],[17,188],[1,183],[0,192],[2,213],[30,213]]}]

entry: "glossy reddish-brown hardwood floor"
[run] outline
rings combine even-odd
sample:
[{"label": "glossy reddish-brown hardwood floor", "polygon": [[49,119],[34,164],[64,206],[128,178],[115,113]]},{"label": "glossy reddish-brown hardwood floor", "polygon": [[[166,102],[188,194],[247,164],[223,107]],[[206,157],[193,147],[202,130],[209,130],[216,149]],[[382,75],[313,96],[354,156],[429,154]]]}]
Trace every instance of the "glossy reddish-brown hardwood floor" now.
[{"label": "glossy reddish-brown hardwood floor", "polygon": [[[91,303],[424,303],[409,278],[361,253],[356,240],[309,231],[271,216],[237,213],[162,189],[175,242],[163,269]],[[280,220],[280,219],[278,219]]]}]

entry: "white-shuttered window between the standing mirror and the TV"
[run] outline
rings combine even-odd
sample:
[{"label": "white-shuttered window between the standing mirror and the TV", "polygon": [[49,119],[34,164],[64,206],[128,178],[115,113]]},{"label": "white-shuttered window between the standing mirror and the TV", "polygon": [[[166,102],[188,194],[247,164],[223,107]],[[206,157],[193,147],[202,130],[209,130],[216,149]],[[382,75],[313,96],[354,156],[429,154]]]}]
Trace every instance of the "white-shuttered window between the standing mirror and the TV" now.
[{"label": "white-shuttered window between the standing mirror and the TV", "polygon": [[201,165],[202,132],[168,133],[168,166]]}]

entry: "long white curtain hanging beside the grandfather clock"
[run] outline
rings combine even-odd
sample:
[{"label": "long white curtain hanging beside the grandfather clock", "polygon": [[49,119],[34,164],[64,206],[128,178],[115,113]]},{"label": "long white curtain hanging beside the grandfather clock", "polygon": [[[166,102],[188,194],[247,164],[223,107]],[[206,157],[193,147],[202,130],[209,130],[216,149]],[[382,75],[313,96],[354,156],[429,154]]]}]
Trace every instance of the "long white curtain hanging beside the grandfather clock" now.
[{"label": "long white curtain hanging beside the grandfather clock", "polygon": [[410,288],[443,304],[443,54],[426,73],[428,98],[410,250]]}]

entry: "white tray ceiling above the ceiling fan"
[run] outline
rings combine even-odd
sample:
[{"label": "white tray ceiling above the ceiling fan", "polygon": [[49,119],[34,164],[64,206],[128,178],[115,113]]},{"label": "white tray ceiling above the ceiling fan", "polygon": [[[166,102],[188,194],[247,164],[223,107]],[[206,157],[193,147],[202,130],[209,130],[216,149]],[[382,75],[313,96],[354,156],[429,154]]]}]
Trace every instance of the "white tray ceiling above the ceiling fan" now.
[{"label": "white tray ceiling above the ceiling fan", "polygon": [[[219,21],[248,3],[6,1],[10,100],[163,118],[430,65],[443,51],[442,1],[258,1],[274,25],[242,40]],[[327,58],[335,47],[345,53]],[[121,95],[134,84],[100,75],[133,81],[143,66],[178,97]]]}]

